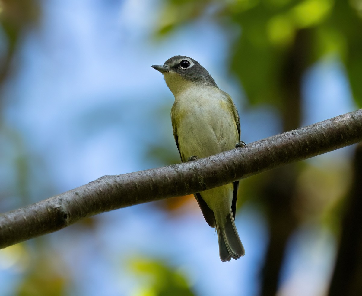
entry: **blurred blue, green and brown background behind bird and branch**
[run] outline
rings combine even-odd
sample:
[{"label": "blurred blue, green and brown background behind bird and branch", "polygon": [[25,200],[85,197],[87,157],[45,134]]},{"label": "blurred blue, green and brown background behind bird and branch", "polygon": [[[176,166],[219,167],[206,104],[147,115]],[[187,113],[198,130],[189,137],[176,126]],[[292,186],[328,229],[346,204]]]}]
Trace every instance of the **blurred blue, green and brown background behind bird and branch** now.
[{"label": "blurred blue, green and brown background behind bird and branch", "polygon": [[[1,0],[0,22],[0,212],[178,163],[151,69],[176,54],[232,96],[246,143],[362,105],[361,0]],[[0,295],[361,295],[361,154],[241,180],[239,260],[171,198],[0,250]]]}]

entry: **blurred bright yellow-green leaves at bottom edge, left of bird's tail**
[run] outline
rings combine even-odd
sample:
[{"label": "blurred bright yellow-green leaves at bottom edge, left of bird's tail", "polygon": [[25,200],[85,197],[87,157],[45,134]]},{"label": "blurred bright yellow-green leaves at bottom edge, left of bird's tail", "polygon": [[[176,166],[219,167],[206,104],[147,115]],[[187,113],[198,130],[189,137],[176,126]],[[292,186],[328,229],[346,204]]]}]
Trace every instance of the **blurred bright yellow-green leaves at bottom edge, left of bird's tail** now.
[{"label": "blurred bright yellow-green leaves at bottom edge, left of bird's tail", "polygon": [[131,270],[142,283],[134,295],[137,296],[192,296],[195,295],[182,272],[166,263],[150,259],[133,259]]}]

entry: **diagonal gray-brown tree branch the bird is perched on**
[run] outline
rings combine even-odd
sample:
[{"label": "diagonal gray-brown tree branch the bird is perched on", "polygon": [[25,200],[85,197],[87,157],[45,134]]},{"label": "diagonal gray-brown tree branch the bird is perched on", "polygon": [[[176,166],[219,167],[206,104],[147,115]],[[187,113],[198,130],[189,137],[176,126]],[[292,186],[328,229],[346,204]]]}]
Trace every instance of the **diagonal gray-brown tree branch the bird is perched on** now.
[{"label": "diagonal gray-brown tree branch the bird is perched on", "polygon": [[0,215],[0,248],[51,233],[81,218],[183,196],[362,141],[362,109],[198,161],[103,176]]}]

